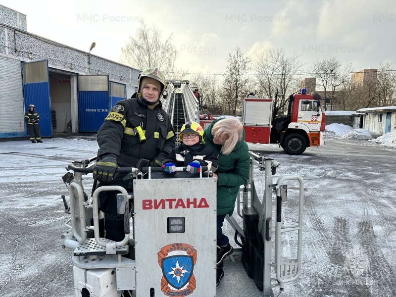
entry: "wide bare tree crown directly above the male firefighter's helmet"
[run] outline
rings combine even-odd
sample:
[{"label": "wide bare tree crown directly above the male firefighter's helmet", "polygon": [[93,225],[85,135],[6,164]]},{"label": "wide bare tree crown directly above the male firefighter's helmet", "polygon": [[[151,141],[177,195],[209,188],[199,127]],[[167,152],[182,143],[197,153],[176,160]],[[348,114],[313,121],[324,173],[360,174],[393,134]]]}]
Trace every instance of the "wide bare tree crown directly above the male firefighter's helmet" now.
[{"label": "wide bare tree crown directly above the male firefighter's helmet", "polygon": [[142,17],[139,22],[136,38],[130,36],[129,42],[121,49],[120,62],[140,70],[154,67],[171,69],[179,56],[172,45],[173,33],[162,41],[161,32],[155,25],[148,27]]}]

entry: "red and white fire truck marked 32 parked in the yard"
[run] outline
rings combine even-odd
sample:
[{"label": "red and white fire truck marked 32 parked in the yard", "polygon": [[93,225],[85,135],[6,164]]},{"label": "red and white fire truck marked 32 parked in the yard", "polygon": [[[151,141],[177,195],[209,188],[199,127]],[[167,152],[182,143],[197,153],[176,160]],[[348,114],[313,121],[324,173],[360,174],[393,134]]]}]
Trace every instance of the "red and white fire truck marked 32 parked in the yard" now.
[{"label": "red and white fire truck marked 32 parked in the yard", "polygon": [[[323,146],[326,123],[320,100],[320,95],[307,95],[302,89],[289,97],[287,114],[278,115],[277,96],[273,100],[248,95],[242,105],[245,141],[279,144],[292,155],[303,153],[307,147]],[[200,120],[199,123],[206,128],[211,122]]]}]

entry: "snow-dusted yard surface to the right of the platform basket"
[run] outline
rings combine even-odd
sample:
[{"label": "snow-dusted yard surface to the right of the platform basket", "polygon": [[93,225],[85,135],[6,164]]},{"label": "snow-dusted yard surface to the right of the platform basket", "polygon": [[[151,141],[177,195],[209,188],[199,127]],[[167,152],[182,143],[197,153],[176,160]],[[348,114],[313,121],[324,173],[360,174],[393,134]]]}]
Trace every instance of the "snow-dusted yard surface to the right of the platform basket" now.
[{"label": "snow-dusted yard surface to the right of the platform basket", "polygon": [[[285,285],[284,297],[396,296],[395,133],[380,144],[363,140],[367,131],[361,129],[343,138],[349,131],[343,126],[330,127],[337,136],[300,156],[265,148],[281,162],[277,175],[297,173],[309,188],[301,275]],[[284,219],[293,219],[294,200],[285,206]],[[293,244],[286,239],[286,252],[295,250]]]}]

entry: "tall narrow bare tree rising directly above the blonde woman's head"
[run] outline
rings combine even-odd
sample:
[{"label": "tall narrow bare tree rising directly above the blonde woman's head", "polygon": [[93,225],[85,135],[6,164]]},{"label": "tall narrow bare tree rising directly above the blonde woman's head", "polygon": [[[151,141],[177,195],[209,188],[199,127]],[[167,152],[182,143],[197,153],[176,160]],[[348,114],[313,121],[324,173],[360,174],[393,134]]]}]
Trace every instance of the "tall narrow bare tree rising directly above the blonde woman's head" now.
[{"label": "tall narrow bare tree rising directly above the blonde woman's head", "polygon": [[241,108],[247,90],[247,71],[250,69],[251,59],[245,56],[237,47],[235,53],[228,54],[227,71],[224,73],[222,98],[227,105],[228,114],[236,115],[237,109]]}]

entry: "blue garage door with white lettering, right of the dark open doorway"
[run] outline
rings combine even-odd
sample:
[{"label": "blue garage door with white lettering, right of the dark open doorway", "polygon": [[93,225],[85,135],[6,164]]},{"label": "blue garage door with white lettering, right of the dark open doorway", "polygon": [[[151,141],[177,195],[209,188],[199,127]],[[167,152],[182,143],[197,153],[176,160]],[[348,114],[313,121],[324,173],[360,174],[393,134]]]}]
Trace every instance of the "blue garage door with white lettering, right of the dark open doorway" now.
[{"label": "blue garage door with white lettering, right of the dark open doorway", "polygon": [[108,75],[79,75],[79,131],[98,132],[108,113],[108,106]]}]

